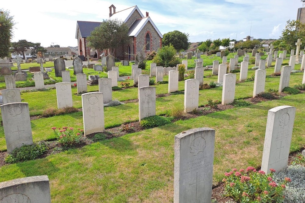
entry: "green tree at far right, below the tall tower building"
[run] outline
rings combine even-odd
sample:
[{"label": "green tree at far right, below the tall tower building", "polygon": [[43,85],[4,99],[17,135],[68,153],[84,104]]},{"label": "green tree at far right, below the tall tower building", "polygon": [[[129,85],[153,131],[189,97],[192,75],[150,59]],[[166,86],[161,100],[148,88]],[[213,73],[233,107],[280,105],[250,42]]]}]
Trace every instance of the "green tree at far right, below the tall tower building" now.
[{"label": "green tree at far right, below the tall tower building", "polygon": [[299,20],[288,20],[282,31],[281,39],[287,44],[287,49],[294,49],[298,39],[305,40],[305,24]]}]

